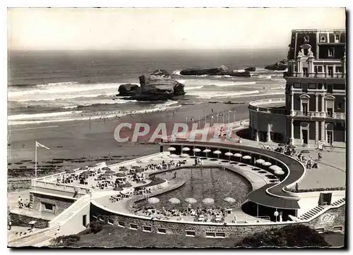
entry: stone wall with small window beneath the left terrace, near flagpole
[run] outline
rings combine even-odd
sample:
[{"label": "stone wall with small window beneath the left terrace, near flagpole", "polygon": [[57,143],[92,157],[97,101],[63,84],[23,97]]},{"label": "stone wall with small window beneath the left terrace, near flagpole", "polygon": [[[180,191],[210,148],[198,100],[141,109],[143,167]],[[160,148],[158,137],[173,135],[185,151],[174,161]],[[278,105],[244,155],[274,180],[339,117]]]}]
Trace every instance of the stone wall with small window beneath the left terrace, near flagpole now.
[{"label": "stone wall with small window beneath the left terrace, near flagpole", "polygon": [[46,211],[48,213],[53,213],[55,215],[59,215],[62,211],[71,206],[76,199],[66,199],[62,197],[55,197],[47,194],[37,194],[35,192],[30,192],[33,196],[33,209],[36,211],[46,211],[42,208],[42,203],[53,204],[53,211]]}]

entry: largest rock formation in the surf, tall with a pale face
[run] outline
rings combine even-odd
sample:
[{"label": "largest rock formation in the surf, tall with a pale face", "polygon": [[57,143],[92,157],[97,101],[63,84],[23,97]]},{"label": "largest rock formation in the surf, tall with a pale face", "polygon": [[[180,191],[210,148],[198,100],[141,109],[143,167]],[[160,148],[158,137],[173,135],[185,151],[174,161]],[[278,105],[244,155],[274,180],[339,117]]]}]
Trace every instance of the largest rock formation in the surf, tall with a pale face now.
[{"label": "largest rock formation in the surf, tall with a pale face", "polygon": [[[131,85],[120,85],[119,96],[125,96],[125,94],[120,94],[120,91],[125,92],[126,89],[130,89],[126,96],[131,96],[127,99],[143,101],[167,100],[185,94],[184,84],[175,80],[166,70],[157,69],[152,73],[141,75],[138,78],[140,80],[139,89]],[[133,88],[135,93],[131,88]]]}]

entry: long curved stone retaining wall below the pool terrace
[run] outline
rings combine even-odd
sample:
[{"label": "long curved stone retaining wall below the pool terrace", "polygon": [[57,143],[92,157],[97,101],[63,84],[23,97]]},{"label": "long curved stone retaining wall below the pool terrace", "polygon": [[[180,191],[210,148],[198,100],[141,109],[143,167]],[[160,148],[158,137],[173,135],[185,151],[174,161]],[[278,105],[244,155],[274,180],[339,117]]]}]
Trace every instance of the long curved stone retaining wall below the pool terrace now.
[{"label": "long curved stone retaining wall below the pool terrace", "polygon": [[[326,214],[325,214],[326,213]],[[304,224],[309,225],[311,228],[327,230],[335,230],[334,227],[342,226],[342,231],[344,231],[345,223],[345,206],[341,206],[338,209],[330,209],[323,213],[321,218],[311,220],[308,223],[290,223],[290,224]],[[256,225],[223,225],[215,223],[183,223],[167,220],[151,220],[148,217],[138,217],[138,216],[126,216],[122,214],[112,213],[110,211],[105,211],[100,207],[91,204],[90,207],[91,220],[100,220],[104,223],[109,223],[111,225],[116,225],[116,228],[130,228],[145,231],[159,233],[165,232],[165,234],[174,235],[186,235],[186,231],[191,231],[197,237],[207,237],[208,232],[219,233],[220,237],[226,238],[243,238],[248,235],[253,235],[255,232],[261,232],[270,228],[282,228],[289,223],[271,223],[263,224],[258,223]],[[332,218],[332,215],[335,218]],[[331,222],[332,221],[332,222]],[[131,226],[132,224],[132,226]],[[121,226],[124,225],[124,226]],[[145,229],[144,227],[150,227],[150,229]],[[337,230],[337,229],[336,229]]]}]

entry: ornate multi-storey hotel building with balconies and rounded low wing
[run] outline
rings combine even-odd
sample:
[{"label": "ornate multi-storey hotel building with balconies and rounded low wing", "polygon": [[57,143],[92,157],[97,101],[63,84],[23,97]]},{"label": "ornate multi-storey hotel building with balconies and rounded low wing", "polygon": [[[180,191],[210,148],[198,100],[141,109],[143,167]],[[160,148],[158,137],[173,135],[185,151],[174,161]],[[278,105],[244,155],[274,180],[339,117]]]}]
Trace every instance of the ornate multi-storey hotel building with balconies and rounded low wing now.
[{"label": "ornate multi-storey hotel building with balconies and rounded low wing", "polygon": [[345,45],[345,30],[292,30],[285,99],[251,102],[253,139],[345,147]]}]

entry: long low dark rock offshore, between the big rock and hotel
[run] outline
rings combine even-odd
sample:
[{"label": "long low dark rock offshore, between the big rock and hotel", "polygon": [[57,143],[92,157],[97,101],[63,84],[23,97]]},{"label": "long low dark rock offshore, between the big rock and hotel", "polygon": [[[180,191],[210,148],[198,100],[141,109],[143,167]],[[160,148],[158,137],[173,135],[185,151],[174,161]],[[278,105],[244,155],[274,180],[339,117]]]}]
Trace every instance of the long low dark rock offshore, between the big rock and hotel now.
[{"label": "long low dark rock offshore, between the big rock and hotel", "polygon": [[249,71],[245,70],[244,72],[235,72],[229,70],[227,66],[220,66],[218,68],[188,68],[180,71],[180,75],[230,75],[235,77],[251,77]]}]

